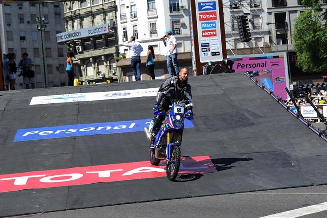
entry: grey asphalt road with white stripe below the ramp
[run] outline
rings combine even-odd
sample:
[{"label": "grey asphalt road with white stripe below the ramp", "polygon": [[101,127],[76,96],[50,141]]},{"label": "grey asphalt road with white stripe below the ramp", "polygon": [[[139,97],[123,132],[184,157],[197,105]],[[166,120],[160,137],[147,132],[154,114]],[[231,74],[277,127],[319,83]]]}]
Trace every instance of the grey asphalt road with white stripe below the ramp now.
[{"label": "grey asphalt road with white stripe below the ramp", "polygon": [[[19,217],[263,217],[327,201],[327,185],[154,201]],[[279,217],[279,215],[277,216]],[[281,216],[280,216],[281,217]],[[305,218],[327,217],[324,211]]]}]

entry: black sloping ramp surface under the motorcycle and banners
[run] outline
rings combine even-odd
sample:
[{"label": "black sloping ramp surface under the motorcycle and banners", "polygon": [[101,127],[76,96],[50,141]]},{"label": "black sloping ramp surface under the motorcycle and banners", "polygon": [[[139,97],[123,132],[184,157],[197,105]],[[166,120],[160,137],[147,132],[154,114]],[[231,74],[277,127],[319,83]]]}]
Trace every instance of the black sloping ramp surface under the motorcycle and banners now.
[{"label": "black sloping ramp surface under the motorcycle and banners", "polygon": [[[216,172],[0,193],[0,216],[327,183],[326,142],[243,74],[191,77],[183,156]],[[18,129],[152,118],[155,97],[29,105],[33,96],[159,87],[163,80],[3,92],[0,174],[147,161],[143,132],[13,142]]]}]

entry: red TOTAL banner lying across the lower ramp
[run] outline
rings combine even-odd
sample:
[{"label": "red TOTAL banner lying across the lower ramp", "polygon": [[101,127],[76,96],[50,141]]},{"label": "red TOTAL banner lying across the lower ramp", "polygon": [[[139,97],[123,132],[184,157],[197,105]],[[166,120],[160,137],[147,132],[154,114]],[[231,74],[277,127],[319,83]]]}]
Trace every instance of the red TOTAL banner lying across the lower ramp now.
[{"label": "red TOTAL banner lying across the lower ramp", "polygon": [[[210,157],[198,156],[182,158],[179,174],[213,172]],[[165,164],[153,166],[150,161],[23,172],[0,175],[0,193],[165,176]]]}]

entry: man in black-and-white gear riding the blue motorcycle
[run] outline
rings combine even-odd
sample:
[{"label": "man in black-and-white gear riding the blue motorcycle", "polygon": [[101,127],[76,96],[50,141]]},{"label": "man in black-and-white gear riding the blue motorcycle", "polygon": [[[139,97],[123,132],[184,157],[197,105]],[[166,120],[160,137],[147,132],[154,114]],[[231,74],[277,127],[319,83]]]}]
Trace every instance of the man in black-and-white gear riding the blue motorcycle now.
[{"label": "man in black-and-white gear riding the blue motorcycle", "polygon": [[[153,111],[167,112],[172,100],[186,100],[187,105],[185,106],[185,114],[187,116],[193,115],[191,86],[188,83],[188,77],[189,69],[187,67],[182,67],[178,76],[173,76],[166,79],[159,88],[156,97],[156,103],[153,106]],[[154,149],[155,137],[160,129],[163,120],[165,120],[165,115],[157,115],[151,121],[150,133],[152,134],[152,140],[150,144],[150,150]]]}]

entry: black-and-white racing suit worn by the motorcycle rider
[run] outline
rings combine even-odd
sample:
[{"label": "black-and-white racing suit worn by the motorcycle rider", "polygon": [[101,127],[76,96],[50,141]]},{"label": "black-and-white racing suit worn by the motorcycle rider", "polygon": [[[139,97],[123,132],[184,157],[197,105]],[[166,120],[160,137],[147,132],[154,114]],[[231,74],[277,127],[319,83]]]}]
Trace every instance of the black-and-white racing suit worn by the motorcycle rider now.
[{"label": "black-and-white racing suit worn by the motorcycle rider", "polygon": [[[156,104],[159,106],[159,110],[168,111],[173,100],[185,100],[187,104],[185,110],[192,110],[191,86],[188,84],[187,80],[182,83],[179,77],[173,76],[162,83],[156,97]],[[155,140],[154,136],[159,131],[163,120],[165,120],[165,115],[157,115],[153,119],[153,128],[150,129],[153,136],[152,143]]]}]

